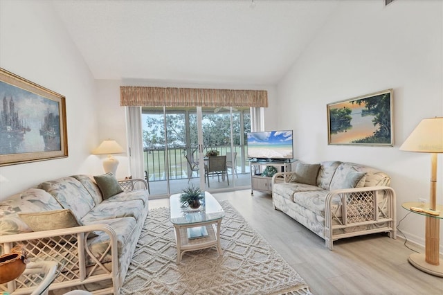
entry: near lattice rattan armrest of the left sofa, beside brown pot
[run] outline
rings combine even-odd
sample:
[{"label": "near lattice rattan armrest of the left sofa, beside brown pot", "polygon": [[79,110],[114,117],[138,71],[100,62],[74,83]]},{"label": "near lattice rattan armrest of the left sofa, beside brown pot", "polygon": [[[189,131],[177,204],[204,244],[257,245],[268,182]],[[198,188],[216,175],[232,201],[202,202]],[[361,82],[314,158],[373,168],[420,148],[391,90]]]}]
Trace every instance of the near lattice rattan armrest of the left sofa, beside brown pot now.
[{"label": "near lattice rattan armrest of the left sofa, beside brown pot", "polygon": [[[105,253],[110,253],[111,262],[102,262],[105,254],[96,258],[87,247],[89,234],[97,231],[103,231],[109,235],[109,247]],[[106,294],[118,294],[120,282],[118,280],[117,234],[107,224],[76,226],[68,229],[19,233],[0,237],[0,247],[3,253],[10,252],[13,247],[18,245],[26,249],[27,256],[32,262],[46,260],[59,263],[60,274],[49,287],[50,290],[111,280],[112,286],[106,287],[103,291]],[[88,255],[92,260],[92,265],[91,263],[87,265]],[[105,263],[108,267],[105,266]],[[0,291],[12,293],[17,290],[19,294],[28,294],[38,287],[38,283],[38,279],[20,276],[14,281],[0,285]]]}]

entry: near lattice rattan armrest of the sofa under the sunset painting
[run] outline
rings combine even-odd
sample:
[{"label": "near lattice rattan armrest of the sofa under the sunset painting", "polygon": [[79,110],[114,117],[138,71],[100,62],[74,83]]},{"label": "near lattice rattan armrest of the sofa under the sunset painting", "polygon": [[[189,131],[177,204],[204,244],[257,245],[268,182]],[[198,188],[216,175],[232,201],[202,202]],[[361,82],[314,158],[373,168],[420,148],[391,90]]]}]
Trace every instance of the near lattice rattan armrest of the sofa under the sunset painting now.
[{"label": "near lattice rattan armrest of the sofa under the sunset painting", "polygon": [[[339,201],[336,207],[336,201]],[[334,202],[333,202],[334,201]],[[395,190],[388,186],[344,188],[330,191],[325,197],[325,241],[332,250],[332,242],[338,238],[359,233],[334,234],[334,229],[346,229],[374,224],[372,233],[389,232],[397,238],[397,211]],[[334,203],[334,204],[333,204]],[[338,217],[341,213],[341,217]],[[385,224],[381,226],[380,224]],[[368,234],[368,230],[361,234]]]}]

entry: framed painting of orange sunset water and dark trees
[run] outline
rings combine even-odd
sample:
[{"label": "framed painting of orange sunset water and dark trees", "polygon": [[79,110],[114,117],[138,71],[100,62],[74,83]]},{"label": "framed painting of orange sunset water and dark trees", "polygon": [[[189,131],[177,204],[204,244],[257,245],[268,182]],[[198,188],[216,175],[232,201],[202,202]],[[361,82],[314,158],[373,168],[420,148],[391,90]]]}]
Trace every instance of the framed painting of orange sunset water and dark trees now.
[{"label": "framed painting of orange sunset water and dark trees", "polygon": [[327,105],[329,145],[394,145],[392,89]]}]

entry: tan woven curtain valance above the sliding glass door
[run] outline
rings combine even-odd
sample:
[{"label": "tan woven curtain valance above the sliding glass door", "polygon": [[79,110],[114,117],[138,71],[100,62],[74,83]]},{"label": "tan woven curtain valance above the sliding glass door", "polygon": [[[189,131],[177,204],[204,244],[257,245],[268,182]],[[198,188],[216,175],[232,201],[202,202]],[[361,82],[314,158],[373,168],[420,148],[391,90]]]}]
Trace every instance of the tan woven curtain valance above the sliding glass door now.
[{"label": "tan woven curtain valance above the sliding glass door", "polygon": [[125,107],[268,107],[266,90],[120,87]]}]

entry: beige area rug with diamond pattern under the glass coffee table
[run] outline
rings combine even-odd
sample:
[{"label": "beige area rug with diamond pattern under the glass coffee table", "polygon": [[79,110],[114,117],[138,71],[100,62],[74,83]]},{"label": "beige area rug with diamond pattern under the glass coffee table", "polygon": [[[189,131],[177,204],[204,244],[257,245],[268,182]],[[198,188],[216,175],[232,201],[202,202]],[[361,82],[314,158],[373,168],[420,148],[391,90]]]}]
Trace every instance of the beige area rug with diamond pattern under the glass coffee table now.
[{"label": "beige area rug with diamond pattern under the glass coffee table", "polygon": [[150,211],[121,294],[310,294],[305,280],[229,204],[220,202],[223,256],[183,254],[177,265],[169,208]]}]

